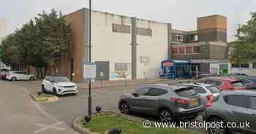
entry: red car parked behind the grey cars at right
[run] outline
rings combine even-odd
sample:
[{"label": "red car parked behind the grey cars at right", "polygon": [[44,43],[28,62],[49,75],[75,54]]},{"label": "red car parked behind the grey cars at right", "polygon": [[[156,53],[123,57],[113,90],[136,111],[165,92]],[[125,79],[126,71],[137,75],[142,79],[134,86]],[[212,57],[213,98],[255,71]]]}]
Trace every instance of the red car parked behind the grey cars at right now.
[{"label": "red car parked behind the grey cars at right", "polygon": [[220,90],[246,90],[245,84],[241,79],[230,78],[230,77],[220,77],[220,76],[210,76],[203,79],[199,79],[198,82],[204,82],[207,84],[215,84]]}]

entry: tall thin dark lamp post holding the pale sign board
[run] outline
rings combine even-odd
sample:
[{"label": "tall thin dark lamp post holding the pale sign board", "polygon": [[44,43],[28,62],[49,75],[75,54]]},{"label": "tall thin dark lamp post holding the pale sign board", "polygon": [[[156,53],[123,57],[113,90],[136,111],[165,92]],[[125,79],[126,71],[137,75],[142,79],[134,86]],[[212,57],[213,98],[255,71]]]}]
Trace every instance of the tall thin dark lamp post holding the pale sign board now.
[{"label": "tall thin dark lamp post holding the pale sign board", "polygon": [[[89,0],[89,63],[91,63],[91,0]],[[91,79],[89,79],[88,114],[91,116]]]}]

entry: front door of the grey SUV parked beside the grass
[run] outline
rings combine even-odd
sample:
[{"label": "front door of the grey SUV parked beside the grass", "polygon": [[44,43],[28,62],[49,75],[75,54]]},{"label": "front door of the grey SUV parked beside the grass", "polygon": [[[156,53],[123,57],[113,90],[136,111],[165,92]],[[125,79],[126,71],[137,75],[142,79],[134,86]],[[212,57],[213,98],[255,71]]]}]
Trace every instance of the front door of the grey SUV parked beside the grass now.
[{"label": "front door of the grey SUV parked beside the grass", "polygon": [[142,100],[144,95],[148,92],[148,90],[149,90],[149,87],[142,87],[135,91],[138,94],[138,96],[132,95],[129,98],[129,108],[132,111],[140,112],[140,113],[143,112]]}]

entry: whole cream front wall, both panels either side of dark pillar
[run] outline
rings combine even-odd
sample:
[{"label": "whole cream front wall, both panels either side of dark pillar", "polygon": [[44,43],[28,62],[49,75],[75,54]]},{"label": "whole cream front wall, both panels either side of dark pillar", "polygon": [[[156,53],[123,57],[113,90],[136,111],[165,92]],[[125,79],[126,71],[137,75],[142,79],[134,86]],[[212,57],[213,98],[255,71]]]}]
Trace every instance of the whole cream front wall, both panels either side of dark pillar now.
[{"label": "whole cream front wall, both panels either side of dark pillar", "polygon": [[[115,63],[128,64],[128,79],[131,79],[131,17],[113,15],[105,12],[92,13],[92,48],[94,62],[109,61],[110,80],[116,73]],[[167,24],[137,19],[137,78],[157,77],[161,60],[167,58]],[[149,59],[144,65],[141,59]],[[124,78],[118,78],[124,79]]]}]

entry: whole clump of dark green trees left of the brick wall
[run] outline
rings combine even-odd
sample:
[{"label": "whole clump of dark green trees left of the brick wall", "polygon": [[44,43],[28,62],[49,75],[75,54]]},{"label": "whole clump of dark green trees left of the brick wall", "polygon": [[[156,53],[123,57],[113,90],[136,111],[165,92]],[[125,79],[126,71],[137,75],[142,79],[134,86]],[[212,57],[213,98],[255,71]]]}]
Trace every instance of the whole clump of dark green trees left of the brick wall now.
[{"label": "whole clump of dark green trees left of the brick wall", "polygon": [[42,68],[58,66],[61,55],[69,52],[72,44],[71,24],[61,12],[52,9],[42,12],[1,42],[0,59],[9,66],[34,66],[44,76]]}]

